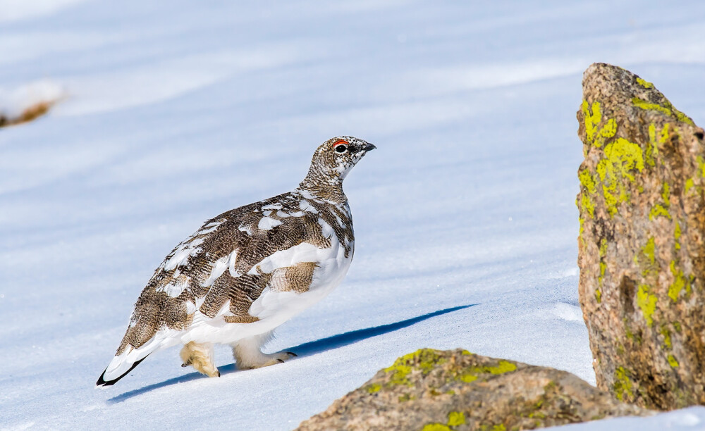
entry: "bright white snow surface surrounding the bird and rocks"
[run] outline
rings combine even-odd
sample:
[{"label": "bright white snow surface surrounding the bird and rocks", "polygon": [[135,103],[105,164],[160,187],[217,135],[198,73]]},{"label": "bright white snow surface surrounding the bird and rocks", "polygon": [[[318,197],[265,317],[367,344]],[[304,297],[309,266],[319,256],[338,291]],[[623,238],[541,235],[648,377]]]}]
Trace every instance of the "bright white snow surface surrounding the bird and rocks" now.
[{"label": "bright white snow surface surrounding the bird and rocks", "polygon": [[[421,347],[594,382],[577,301],[575,112],[594,61],[705,124],[705,3],[0,0],[0,427],[288,430]],[[105,391],[142,287],[204,220],[286,192],[337,135],[348,277],[282,325],[298,358],[223,376],[150,356]],[[604,427],[604,428],[603,428]],[[705,408],[576,430],[705,429]],[[570,428],[568,428],[570,429]]]}]

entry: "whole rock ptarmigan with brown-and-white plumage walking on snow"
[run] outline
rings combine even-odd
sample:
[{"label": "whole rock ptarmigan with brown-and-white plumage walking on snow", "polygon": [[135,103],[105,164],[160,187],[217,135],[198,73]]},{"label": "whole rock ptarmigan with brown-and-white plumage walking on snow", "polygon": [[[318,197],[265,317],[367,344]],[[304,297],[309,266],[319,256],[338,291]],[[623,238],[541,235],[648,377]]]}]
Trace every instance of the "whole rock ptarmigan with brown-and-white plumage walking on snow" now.
[{"label": "whole rock ptarmigan with brown-and-white plumage walking on snow", "polygon": [[348,272],[355,237],[343,180],[374,148],[355,137],[329,139],[292,192],[218,215],[178,244],[142,290],[97,387],[114,385],[149,354],[178,344],[183,366],[210,377],[220,375],[213,344],[230,344],[239,369],[293,356],[260,348]]}]

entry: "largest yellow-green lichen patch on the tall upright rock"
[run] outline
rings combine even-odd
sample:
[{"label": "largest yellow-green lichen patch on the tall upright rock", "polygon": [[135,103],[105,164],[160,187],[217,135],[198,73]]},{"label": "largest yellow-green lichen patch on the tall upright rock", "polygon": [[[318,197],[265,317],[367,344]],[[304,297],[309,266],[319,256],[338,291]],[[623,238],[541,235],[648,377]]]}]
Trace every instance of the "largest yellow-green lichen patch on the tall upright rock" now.
[{"label": "largest yellow-green lichen patch on the tall upright rock", "polygon": [[623,178],[634,182],[634,170],[644,169],[644,154],[639,145],[618,138],[605,146],[605,158],[597,164],[597,174],[602,182],[602,192],[610,215],[617,213],[617,206],[629,199]]}]

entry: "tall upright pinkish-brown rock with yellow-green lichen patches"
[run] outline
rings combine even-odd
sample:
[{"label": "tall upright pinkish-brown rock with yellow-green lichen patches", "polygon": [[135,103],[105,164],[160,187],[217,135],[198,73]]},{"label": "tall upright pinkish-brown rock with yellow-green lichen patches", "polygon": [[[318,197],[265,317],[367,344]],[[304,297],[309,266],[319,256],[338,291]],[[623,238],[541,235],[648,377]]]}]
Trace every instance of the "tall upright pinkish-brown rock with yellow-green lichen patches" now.
[{"label": "tall upright pinkish-brown rock with yellow-green lichen patches", "polygon": [[598,387],[705,404],[703,130],[623,68],[593,64],[582,85],[580,304]]}]

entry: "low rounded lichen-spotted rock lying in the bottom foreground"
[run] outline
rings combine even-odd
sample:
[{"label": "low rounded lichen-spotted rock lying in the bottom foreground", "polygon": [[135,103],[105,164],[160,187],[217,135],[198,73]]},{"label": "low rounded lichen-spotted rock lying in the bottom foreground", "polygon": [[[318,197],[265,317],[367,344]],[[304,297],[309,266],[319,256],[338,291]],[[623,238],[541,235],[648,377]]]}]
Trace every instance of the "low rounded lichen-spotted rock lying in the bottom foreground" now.
[{"label": "low rounded lichen-spotted rock lying in the bottom foreground", "polygon": [[298,430],[532,430],[646,414],[565,371],[462,349],[421,349]]}]

